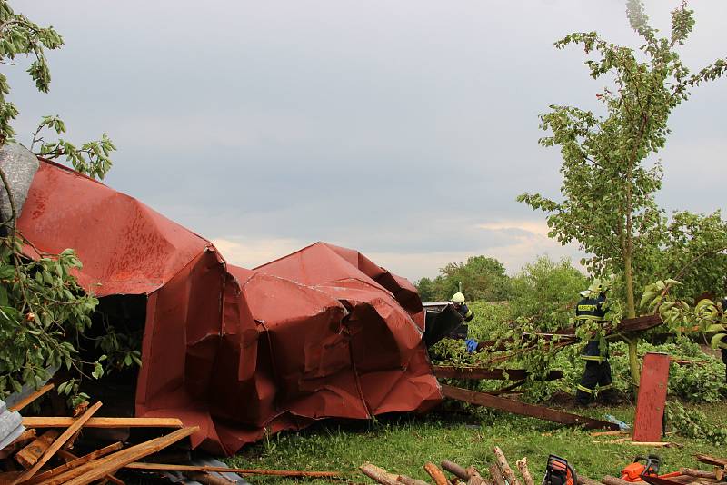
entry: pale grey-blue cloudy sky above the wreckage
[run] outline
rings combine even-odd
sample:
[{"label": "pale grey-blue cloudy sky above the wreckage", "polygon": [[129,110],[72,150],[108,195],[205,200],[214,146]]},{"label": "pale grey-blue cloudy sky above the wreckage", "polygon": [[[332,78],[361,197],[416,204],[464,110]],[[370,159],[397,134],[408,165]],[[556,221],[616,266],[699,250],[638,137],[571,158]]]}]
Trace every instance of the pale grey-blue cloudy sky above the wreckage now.
[{"label": "pale grey-blue cloudy sky above the wreckage", "polygon": [[[692,0],[682,58],[727,54],[727,2]],[[315,241],[353,247],[410,279],[486,254],[517,272],[577,258],[515,197],[556,196],[560,159],[537,144],[549,104],[597,108],[577,48],[597,30],[637,46],[621,0],[16,0],[54,25],[53,84],[10,74],[27,141],[43,114],[68,138],[108,133],[105,182],[253,267]],[[669,31],[676,1],[647,2]],[[11,70],[14,70],[11,72]],[[727,208],[727,81],[677,108],[660,153],[669,210]]]}]

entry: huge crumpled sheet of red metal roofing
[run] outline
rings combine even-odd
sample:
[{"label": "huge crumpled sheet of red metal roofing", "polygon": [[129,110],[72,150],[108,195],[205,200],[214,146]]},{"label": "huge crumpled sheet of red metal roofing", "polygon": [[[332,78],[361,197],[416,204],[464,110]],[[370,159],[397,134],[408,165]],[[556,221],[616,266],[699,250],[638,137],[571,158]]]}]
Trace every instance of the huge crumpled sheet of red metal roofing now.
[{"label": "huge crumpled sheet of red metal roofing", "polygon": [[416,290],[359,252],[316,243],[237,268],[143,203],[46,161],[18,228],[38,251],[75,248],[96,295],[147,295],[135,412],[200,426],[194,446],[231,454],[265,430],[442,399]]}]

